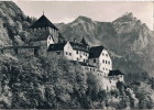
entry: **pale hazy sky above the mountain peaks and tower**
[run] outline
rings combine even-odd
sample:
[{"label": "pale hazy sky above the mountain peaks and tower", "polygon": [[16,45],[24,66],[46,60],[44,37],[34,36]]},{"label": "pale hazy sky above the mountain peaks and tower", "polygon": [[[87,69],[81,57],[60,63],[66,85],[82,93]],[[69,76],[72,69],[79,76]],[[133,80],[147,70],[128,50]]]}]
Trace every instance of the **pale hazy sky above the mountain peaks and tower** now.
[{"label": "pale hazy sky above the mountain peaks and tower", "polygon": [[153,30],[153,2],[150,1],[14,1],[30,16],[44,14],[53,23],[68,23],[79,15],[100,22],[112,22],[125,12]]}]

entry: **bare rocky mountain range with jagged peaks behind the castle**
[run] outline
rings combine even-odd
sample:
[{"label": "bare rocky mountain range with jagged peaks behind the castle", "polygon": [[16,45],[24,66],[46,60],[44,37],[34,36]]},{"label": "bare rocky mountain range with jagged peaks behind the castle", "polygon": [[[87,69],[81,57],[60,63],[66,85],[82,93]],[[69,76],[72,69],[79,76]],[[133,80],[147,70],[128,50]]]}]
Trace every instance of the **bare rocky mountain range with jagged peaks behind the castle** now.
[{"label": "bare rocky mountain range with jagged peaks behind the castle", "polygon": [[[68,24],[57,24],[66,40],[81,37],[91,45],[105,45],[113,59],[113,67],[124,73],[150,73],[154,75],[154,36],[153,32],[132,12],[127,12],[112,22],[92,21],[78,16]],[[128,66],[130,68],[128,69]]]}]

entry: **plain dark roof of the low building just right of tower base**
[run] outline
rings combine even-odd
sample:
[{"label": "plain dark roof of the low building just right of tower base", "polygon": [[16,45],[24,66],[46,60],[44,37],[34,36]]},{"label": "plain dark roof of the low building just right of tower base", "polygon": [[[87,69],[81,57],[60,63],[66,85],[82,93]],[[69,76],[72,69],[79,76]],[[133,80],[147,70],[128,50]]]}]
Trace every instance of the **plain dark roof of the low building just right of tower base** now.
[{"label": "plain dark roof of the low building just right of tower base", "polygon": [[65,45],[66,45],[66,42],[65,43],[58,43],[58,44],[51,44],[47,52],[63,51]]}]

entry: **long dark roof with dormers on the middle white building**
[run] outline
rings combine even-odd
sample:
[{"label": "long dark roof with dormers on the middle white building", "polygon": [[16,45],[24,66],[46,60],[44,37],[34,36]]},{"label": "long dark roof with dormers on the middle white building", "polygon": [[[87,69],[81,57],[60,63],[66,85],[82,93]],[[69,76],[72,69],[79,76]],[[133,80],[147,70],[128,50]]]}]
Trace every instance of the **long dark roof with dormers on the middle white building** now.
[{"label": "long dark roof with dormers on the middle white building", "polygon": [[89,47],[76,42],[69,42],[72,47],[77,51],[89,52]]}]

